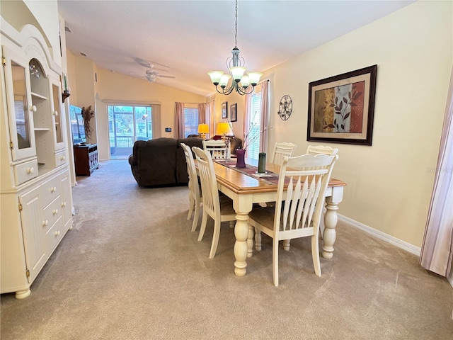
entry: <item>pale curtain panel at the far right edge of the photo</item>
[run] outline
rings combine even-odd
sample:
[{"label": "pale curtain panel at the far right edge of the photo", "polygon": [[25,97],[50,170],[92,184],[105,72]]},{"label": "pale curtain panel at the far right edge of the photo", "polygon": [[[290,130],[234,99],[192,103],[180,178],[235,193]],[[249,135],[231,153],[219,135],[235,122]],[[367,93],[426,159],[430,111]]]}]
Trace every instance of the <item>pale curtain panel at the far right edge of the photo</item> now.
[{"label": "pale curtain panel at the far right edge of the photo", "polygon": [[448,277],[453,257],[453,69],[420,264]]}]

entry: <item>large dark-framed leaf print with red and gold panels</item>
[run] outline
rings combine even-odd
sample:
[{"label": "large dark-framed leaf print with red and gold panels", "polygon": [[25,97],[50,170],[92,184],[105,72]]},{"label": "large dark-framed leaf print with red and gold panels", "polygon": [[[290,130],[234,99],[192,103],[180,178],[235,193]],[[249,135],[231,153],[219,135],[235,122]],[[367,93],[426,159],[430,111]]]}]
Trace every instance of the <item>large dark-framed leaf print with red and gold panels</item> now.
[{"label": "large dark-framed leaf print with red and gold panels", "polygon": [[377,65],[309,83],[306,140],[372,145]]}]

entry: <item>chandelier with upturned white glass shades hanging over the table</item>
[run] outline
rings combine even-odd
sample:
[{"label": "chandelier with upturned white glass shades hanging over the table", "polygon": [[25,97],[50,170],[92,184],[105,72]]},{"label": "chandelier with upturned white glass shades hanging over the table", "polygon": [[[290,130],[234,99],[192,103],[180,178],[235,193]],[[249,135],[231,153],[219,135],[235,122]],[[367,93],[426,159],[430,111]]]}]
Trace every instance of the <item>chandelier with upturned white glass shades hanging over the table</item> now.
[{"label": "chandelier with upturned white glass shades hanging over the table", "polygon": [[[229,69],[229,74],[224,74],[222,71],[211,71],[207,72],[211,77],[212,84],[215,85],[215,89],[219,94],[231,94],[234,90],[241,95],[251,94],[255,86],[260,81],[260,77],[263,75],[260,72],[246,72],[244,65],[246,60],[243,57],[239,57],[239,48],[237,47],[238,42],[238,0],[236,0],[236,21],[234,26],[234,48],[231,50],[233,57],[226,59],[226,67]],[[231,85],[228,85],[229,79]],[[220,87],[220,89],[219,89]]]}]

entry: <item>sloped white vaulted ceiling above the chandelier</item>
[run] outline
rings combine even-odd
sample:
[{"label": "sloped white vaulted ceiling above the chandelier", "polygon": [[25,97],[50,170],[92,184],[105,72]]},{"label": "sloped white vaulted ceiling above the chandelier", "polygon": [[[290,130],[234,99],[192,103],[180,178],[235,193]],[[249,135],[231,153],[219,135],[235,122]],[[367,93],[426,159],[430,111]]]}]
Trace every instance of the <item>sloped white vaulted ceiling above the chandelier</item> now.
[{"label": "sloped white vaulted ceiling above the chandelier", "polygon": [[[246,68],[262,72],[413,2],[239,0],[237,47]],[[175,77],[159,84],[203,96],[214,92],[207,72],[226,71],[234,47],[234,0],[58,0],[58,8],[74,55],[144,81],[154,64]]]}]

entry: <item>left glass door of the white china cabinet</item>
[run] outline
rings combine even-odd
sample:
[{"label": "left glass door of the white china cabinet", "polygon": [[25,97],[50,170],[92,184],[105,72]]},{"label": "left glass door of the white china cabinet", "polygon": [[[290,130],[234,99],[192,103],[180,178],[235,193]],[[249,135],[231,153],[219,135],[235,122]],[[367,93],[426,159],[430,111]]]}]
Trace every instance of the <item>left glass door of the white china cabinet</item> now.
[{"label": "left glass door of the white china cabinet", "polygon": [[4,47],[6,103],[13,160],[33,157],[35,135],[28,62]]}]

